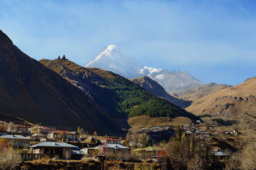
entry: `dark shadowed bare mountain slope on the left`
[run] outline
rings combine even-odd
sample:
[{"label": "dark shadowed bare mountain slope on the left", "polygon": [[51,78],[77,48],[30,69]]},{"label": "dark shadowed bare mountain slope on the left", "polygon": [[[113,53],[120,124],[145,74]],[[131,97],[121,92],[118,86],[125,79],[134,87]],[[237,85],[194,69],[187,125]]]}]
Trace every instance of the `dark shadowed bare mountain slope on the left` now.
[{"label": "dark shadowed bare mountain slope on the left", "polygon": [[121,133],[101,107],[41,63],[19,50],[0,31],[0,117],[100,134]]}]

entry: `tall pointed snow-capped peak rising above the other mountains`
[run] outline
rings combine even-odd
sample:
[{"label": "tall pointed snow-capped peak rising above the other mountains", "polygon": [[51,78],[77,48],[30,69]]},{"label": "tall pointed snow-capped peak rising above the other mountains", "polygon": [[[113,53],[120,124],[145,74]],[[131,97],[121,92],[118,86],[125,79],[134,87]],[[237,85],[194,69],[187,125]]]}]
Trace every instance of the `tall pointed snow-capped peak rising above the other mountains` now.
[{"label": "tall pointed snow-capped peak rising above the other mountains", "polygon": [[96,67],[106,71],[112,71],[125,78],[136,78],[140,76],[138,70],[142,68],[140,62],[131,58],[115,45],[105,46],[84,67]]}]

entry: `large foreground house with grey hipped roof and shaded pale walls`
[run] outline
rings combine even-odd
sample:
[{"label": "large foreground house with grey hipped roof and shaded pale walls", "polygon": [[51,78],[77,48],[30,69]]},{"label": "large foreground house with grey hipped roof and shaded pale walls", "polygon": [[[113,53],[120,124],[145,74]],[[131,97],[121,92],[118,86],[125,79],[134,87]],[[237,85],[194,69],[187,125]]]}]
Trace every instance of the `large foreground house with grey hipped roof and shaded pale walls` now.
[{"label": "large foreground house with grey hipped roof and shaded pale walls", "polygon": [[43,153],[44,158],[69,160],[72,149],[77,148],[77,146],[65,142],[41,142],[30,146],[30,148],[33,149],[33,153]]}]

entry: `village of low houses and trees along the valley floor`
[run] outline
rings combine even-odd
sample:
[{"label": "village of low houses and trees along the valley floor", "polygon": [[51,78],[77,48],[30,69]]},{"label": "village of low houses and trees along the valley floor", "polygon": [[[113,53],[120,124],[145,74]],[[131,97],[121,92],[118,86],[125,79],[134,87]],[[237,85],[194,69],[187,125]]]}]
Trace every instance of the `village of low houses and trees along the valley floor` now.
[{"label": "village of low houses and trees along the valley floor", "polygon": [[[212,140],[214,137],[226,135],[234,137],[237,132],[217,130],[208,124],[196,121],[182,126],[159,126],[140,128],[136,131],[138,139],[124,137],[98,136],[96,132],[88,135],[82,128],[77,132],[57,130],[54,127],[41,124],[14,124],[0,121],[0,148],[14,148],[19,151],[23,161],[50,160],[120,160],[122,162],[156,162],[166,164],[169,160],[167,144],[174,137],[177,130],[186,136],[193,136],[201,140]],[[143,144],[143,135],[151,139]],[[224,159],[232,153],[225,153],[221,146],[210,146],[211,155]],[[102,159],[103,158],[103,159]]]}]

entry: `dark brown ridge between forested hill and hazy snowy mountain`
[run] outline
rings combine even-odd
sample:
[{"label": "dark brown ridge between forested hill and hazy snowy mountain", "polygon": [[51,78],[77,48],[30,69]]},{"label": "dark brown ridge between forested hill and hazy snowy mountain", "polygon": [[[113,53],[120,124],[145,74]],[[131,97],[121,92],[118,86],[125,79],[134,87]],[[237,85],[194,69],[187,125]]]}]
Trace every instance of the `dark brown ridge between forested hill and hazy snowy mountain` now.
[{"label": "dark brown ridge between forested hill and hazy snowy mountain", "polygon": [[182,99],[174,98],[174,96],[171,96],[170,94],[168,94],[158,82],[152,80],[148,76],[134,78],[134,79],[131,79],[131,81],[133,81],[137,85],[140,85],[140,87],[142,87],[143,89],[146,89],[147,91],[151,92],[155,96],[165,98],[169,100],[171,103],[174,103],[175,105],[178,105],[182,108],[186,108],[192,103],[192,101],[185,101]]}]

